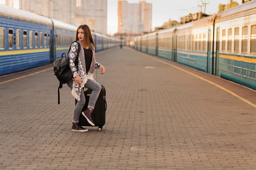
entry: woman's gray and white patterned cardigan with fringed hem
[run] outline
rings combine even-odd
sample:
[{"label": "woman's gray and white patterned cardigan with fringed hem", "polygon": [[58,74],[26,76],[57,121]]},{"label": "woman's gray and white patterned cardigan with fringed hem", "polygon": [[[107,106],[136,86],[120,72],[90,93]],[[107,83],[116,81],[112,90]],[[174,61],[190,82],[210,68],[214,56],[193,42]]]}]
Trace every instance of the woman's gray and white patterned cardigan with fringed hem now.
[{"label": "woman's gray and white patterned cardigan with fringed hem", "polygon": [[[76,60],[76,54],[77,54],[77,50],[78,50],[78,45],[80,45],[80,52],[79,52],[79,57],[78,57],[78,68],[76,68],[75,65],[75,60]],[[81,78],[81,82],[82,84],[79,85],[77,84],[75,81],[73,81],[73,88],[72,88],[72,92],[71,94],[78,100],[80,101],[80,95],[81,95],[81,91],[82,88],[84,88],[84,84],[87,82],[88,79],[94,80],[93,79],[93,75],[95,72],[96,68],[100,68],[100,66],[102,66],[100,63],[96,62],[95,59],[95,48],[93,43],[91,43],[92,45],[92,51],[93,51],[93,59],[90,65],[90,69],[88,71],[88,73],[86,73],[86,65],[85,65],[85,59],[84,59],[84,50],[83,50],[83,46],[81,44],[81,41],[77,41],[74,42],[71,45],[71,50],[70,50],[70,54],[69,54],[69,58],[70,58],[70,69],[72,71],[73,77],[76,77],[77,75],[79,75],[79,77]],[[87,91],[88,88],[84,88],[84,91]]]}]

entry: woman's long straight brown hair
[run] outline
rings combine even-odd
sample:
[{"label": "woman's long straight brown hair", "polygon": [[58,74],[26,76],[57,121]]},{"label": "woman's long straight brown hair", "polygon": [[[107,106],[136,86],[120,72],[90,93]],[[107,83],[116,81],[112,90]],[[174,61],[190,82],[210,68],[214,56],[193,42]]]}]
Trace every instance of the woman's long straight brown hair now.
[{"label": "woman's long straight brown hair", "polygon": [[93,37],[92,37],[92,34],[91,34],[91,32],[90,32],[90,28],[87,26],[87,25],[81,25],[81,26],[79,26],[78,28],[77,28],[77,30],[76,30],[76,41],[78,41],[79,40],[79,38],[78,38],[78,30],[80,29],[80,28],[82,28],[83,29],[83,31],[84,31],[84,40],[83,40],[83,42],[82,42],[82,44],[84,45],[84,47],[89,47],[89,48],[93,48],[92,46],[91,46],[91,43],[93,43],[93,45],[94,45],[94,47],[95,47],[95,44],[94,44],[94,42],[93,42]]}]

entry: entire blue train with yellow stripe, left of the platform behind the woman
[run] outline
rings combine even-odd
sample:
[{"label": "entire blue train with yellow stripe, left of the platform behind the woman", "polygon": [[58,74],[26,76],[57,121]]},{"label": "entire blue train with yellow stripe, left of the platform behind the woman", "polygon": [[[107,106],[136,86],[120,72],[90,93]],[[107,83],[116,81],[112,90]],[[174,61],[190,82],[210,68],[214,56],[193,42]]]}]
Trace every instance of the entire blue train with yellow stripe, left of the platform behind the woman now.
[{"label": "entire blue train with yellow stripe, left of the platform behind the woman", "polygon": [[[76,26],[0,5],[0,76],[52,63],[76,40]],[[91,32],[95,51],[120,40]]]}]

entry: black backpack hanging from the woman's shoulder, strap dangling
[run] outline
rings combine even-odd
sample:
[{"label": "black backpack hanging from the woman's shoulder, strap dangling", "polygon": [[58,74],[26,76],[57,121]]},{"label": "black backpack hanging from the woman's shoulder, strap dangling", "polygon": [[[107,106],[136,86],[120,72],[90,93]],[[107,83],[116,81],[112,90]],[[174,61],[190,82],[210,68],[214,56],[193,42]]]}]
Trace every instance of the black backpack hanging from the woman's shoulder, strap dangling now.
[{"label": "black backpack hanging from the woman's shoulder, strap dangling", "polygon": [[[76,42],[76,41],[74,41],[74,42]],[[74,42],[72,42],[72,44]],[[70,45],[70,48],[67,52],[67,56],[66,56],[65,53],[63,53],[61,55],[61,58],[55,59],[54,62],[52,63],[52,65],[54,66],[53,67],[54,75],[57,77],[57,79],[60,82],[59,87],[58,87],[58,104],[60,104],[60,88],[62,88],[63,84],[66,84],[68,81],[70,81],[70,79],[73,79],[73,74],[72,74],[72,71],[71,71],[70,66],[69,66],[70,58],[68,57],[68,54],[69,54],[70,49],[71,49],[71,45]],[[78,57],[79,57],[80,48],[81,47],[80,47],[80,44],[79,44],[78,45],[78,50],[77,50],[77,53],[76,53],[76,60],[75,60],[75,65],[76,65],[77,69],[78,69]]]}]

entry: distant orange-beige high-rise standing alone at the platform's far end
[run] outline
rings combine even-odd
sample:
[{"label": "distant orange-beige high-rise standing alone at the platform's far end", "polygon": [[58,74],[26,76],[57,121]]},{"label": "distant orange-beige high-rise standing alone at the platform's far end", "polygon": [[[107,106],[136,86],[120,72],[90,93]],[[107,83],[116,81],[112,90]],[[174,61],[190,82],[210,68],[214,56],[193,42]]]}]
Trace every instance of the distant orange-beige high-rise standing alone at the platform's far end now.
[{"label": "distant orange-beige high-rise standing alone at the platform's far end", "polygon": [[140,34],[150,32],[152,27],[152,4],[146,1],[128,3],[118,1],[118,33]]}]

